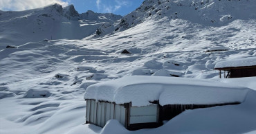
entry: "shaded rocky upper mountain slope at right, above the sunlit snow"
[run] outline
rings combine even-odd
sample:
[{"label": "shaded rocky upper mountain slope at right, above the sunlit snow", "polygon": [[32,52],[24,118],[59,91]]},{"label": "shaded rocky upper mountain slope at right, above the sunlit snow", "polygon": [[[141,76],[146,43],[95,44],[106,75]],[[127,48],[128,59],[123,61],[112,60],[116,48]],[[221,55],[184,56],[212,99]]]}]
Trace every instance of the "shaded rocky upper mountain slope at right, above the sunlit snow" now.
[{"label": "shaded rocky upper mountain slope at right, above the sunlit snow", "polygon": [[113,25],[102,25],[96,35],[127,30],[149,19],[158,20],[166,16],[219,27],[237,19],[255,19],[255,5],[253,0],[149,0]]}]

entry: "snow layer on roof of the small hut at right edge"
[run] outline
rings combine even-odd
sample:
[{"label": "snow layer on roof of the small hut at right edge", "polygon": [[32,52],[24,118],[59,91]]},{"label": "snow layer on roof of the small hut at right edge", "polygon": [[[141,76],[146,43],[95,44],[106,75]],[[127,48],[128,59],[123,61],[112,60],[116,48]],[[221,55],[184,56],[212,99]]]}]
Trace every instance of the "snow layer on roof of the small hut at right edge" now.
[{"label": "snow layer on roof of the small hut at right edge", "polygon": [[256,65],[256,57],[240,58],[232,60],[223,60],[215,65],[214,68],[224,68],[224,67],[246,67]]}]

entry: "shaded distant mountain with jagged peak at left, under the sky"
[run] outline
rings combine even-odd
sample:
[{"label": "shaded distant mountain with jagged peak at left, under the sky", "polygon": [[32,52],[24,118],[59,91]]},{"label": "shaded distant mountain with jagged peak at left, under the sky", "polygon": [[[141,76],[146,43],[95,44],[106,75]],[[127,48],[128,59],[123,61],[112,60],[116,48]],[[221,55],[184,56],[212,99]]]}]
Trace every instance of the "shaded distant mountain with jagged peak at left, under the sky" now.
[{"label": "shaded distant mountain with jagged peak at left, under the sky", "polygon": [[[100,25],[109,25],[122,16],[88,11],[79,14],[73,5],[48,5],[21,12],[0,11],[1,45],[21,45],[28,41],[82,39]],[[10,39],[11,38],[11,39]]]}]

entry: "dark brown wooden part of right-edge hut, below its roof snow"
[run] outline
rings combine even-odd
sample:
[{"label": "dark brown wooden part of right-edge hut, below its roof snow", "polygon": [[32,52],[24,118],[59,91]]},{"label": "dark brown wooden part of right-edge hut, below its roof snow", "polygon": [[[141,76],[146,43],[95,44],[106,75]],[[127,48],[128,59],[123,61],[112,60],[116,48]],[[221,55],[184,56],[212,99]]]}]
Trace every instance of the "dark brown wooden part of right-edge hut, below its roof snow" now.
[{"label": "dark brown wooden part of right-edge hut, below its roof snow", "polygon": [[214,69],[219,70],[219,78],[221,78],[221,71],[224,71],[223,78],[242,78],[256,76],[256,65],[241,67],[223,67]]}]

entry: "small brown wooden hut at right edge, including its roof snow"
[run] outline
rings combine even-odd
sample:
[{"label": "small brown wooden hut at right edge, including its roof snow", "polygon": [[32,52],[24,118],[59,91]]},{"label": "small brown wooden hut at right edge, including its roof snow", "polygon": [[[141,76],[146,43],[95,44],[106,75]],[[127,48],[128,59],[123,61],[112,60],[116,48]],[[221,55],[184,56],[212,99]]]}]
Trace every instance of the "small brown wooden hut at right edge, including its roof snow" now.
[{"label": "small brown wooden hut at right edge, including its roof snow", "polygon": [[219,70],[219,78],[253,77],[256,76],[256,57],[223,60],[214,69]]}]

